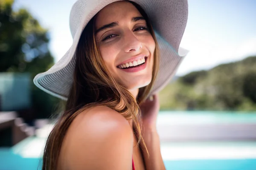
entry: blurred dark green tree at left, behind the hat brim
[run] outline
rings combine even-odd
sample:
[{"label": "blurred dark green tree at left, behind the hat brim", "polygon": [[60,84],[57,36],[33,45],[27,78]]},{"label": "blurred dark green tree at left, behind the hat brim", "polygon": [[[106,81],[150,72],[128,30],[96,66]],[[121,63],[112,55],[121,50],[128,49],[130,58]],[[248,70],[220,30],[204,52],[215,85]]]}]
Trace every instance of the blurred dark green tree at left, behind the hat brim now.
[{"label": "blurred dark green tree at left, behind the hat brim", "polygon": [[[26,9],[14,11],[13,4],[14,0],[0,0],[0,72],[29,72],[32,80],[54,64],[48,48],[49,32]],[[36,118],[48,117],[57,102],[32,85]]]}]

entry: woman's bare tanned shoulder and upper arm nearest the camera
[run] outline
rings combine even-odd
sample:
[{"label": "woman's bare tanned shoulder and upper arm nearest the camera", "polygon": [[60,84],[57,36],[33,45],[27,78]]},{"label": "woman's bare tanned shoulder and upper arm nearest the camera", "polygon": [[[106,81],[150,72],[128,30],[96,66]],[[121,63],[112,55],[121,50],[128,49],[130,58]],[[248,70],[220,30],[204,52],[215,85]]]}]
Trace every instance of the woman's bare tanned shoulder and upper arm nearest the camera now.
[{"label": "woman's bare tanned shoulder and upper arm nearest the camera", "polygon": [[106,106],[81,112],[71,123],[61,147],[68,169],[130,169],[133,132],[128,121]]}]

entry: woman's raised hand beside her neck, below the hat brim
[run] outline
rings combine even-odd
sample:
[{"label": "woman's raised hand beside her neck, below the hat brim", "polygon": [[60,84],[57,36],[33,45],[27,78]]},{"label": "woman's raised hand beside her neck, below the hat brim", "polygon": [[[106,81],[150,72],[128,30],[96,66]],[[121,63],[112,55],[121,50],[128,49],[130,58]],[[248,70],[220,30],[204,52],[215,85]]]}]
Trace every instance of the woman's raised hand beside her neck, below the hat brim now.
[{"label": "woman's raised hand beside her neck, below the hat brim", "polygon": [[150,96],[145,102],[140,104],[142,124],[146,129],[155,130],[157,115],[160,109],[158,94]]}]

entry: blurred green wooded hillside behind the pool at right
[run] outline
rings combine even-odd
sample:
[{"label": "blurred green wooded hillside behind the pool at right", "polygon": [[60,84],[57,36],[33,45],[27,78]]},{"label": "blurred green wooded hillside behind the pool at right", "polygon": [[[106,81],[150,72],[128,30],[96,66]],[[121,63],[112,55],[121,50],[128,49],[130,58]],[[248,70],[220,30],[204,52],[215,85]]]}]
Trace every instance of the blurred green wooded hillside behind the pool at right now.
[{"label": "blurred green wooded hillside behind the pool at right", "polygon": [[179,77],[160,92],[160,108],[256,111],[256,56]]}]

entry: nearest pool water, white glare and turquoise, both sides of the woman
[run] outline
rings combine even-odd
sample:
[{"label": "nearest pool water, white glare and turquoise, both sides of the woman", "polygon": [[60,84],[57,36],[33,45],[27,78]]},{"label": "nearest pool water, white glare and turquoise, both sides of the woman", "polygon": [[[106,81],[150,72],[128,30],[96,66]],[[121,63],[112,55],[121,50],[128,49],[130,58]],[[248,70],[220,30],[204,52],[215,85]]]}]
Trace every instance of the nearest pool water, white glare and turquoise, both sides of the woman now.
[{"label": "nearest pool water, white glare and turquoise, both sides of the woman", "polygon": [[[0,170],[40,170],[45,139],[0,148]],[[167,170],[256,170],[256,142],[161,143]]]}]

